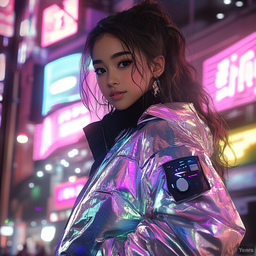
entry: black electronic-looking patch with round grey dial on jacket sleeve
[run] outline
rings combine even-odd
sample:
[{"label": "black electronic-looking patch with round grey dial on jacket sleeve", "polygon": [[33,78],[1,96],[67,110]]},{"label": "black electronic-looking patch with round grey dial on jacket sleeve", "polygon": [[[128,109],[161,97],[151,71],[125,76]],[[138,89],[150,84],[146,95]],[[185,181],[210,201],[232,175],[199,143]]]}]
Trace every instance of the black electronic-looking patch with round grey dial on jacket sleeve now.
[{"label": "black electronic-looking patch with round grey dial on jacket sleeve", "polygon": [[176,202],[211,189],[198,156],[175,159],[163,164],[163,167],[168,190]]}]

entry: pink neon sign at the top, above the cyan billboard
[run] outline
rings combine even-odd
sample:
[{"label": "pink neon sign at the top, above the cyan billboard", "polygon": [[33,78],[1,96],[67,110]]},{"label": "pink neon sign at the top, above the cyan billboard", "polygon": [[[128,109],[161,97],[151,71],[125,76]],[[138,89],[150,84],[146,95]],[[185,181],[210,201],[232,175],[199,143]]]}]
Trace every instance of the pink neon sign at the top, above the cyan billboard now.
[{"label": "pink neon sign at the top, above the cyan billboard", "polygon": [[52,4],[43,11],[41,46],[46,47],[77,32],[78,0],[63,0],[63,9]]}]

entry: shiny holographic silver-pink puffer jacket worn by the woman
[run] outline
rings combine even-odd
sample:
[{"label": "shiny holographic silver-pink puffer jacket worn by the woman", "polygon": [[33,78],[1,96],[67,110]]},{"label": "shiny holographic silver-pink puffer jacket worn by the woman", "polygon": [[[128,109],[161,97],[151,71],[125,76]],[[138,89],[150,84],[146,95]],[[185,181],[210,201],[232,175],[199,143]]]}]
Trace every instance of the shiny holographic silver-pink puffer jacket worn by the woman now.
[{"label": "shiny holographic silver-pink puffer jacket worn by the woman", "polygon": [[233,255],[244,225],[193,104],[153,105],[78,196],[55,255]]}]

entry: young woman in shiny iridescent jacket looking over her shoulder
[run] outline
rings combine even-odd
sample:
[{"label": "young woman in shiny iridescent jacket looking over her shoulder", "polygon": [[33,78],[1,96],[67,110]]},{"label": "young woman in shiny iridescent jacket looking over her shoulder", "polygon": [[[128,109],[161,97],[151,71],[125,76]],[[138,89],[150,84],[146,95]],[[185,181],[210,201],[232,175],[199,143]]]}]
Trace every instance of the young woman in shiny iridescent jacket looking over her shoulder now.
[{"label": "young woman in shiny iridescent jacket looking over her shoulder", "polygon": [[236,252],[245,229],[224,185],[226,124],[185,47],[154,0],[108,15],[88,34],[82,100],[91,109],[93,96],[109,113],[84,128],[95,162],[55,255]]}]

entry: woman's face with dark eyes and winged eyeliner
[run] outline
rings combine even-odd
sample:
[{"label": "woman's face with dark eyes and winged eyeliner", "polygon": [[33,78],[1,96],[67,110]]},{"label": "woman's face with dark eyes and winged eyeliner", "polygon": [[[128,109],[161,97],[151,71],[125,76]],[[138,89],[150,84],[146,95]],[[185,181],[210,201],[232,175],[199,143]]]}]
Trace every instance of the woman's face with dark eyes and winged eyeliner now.
[{"label": "woman's face with dark eyes and winged eyeliner", "polygon": [[[92,64],[100,91],[118,110],[129,108],[145,92],[153,88],[154,79],[147,65],[140,63],[144,68],[144,79],[137,69],[132,75],[132,54],[110,34],[105,34],[95,42],[92,49]],[[140,72],[142,73],[142,68]]]}]

